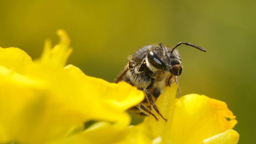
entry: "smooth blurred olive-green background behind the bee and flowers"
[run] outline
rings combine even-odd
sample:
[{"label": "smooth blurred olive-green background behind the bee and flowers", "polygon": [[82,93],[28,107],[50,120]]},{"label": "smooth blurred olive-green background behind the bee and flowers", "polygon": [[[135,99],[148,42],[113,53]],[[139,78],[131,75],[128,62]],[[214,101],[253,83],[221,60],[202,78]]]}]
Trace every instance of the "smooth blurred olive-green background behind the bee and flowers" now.
[{"label": "smooth blurred olive-green background behind the bee and flowers", "polygon": [[0,1],[0,47],[40,57],[46,38],[64,29],[73,53],[67,64],[109,82],[142,46],[181,45],[181,94],[227,103],[237,116],[239,143],[255,143],[256,1]]}]

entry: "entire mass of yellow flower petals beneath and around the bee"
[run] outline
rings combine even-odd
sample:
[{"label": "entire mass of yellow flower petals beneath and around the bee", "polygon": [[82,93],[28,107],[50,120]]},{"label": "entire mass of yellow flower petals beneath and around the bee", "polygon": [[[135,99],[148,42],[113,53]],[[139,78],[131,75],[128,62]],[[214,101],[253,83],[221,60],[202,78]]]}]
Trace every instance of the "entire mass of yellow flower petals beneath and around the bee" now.
[{"label": "entire mass of yellow flower petals beneath and around the bee", "polygon": [[197,94],[175,99],[175,84],[156,102],[167,122],[149,116],[129,126],[126,110],[144,99],[143,92],[65,67],[72,48],[65,31],[57,34],[60,42],[52,48],[46,40],[34,61],[18,48],[0,48],[0,143],[238,142],[237,121],[224,102]]}]

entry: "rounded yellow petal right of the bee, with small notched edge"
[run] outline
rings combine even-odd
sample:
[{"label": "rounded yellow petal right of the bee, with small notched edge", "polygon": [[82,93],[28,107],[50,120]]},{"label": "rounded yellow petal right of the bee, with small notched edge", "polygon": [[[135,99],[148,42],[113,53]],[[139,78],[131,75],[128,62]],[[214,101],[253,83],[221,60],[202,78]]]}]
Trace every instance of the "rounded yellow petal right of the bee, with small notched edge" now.
[{"label": "rounded yellow petal right of the bee, with small notched edge", "polygon": [[173,143],[199,143],[232,129],[237,123],[234,118],[225,102],[198,94],[186,95],[175,105],[170,137]]}]

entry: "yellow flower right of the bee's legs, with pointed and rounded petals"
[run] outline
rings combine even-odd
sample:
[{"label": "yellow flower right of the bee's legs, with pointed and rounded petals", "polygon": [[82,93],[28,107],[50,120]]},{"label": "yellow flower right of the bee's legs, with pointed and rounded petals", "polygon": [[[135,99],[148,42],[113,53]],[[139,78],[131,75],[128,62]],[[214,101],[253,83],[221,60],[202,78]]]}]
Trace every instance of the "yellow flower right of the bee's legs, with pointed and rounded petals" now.
[{"label": "yellow flower right of the bee's legs, with pointed and rounded petals", "polygon": [[239,134],[232,130],[236,116],[225,102],[204,95],[189,94],[175,99],[177,85],[172,84],[157,99],[156,105],[168,121],[149,117],[145,123],[162,143],[238,143]]}]

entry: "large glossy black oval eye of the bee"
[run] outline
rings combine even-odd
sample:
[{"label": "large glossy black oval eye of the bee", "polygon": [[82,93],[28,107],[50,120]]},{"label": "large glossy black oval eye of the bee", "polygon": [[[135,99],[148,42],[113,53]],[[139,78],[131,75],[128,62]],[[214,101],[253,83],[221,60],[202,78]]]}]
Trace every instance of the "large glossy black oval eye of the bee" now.
[{"label": "large glossy black oval eye of the bee", "polygon": [[165,63],[154,53],[154,51],[148,53],[148,61],[157,69],[165,68]]}]

